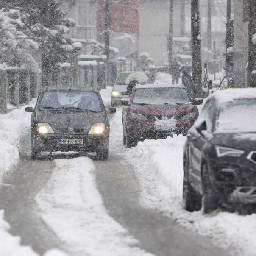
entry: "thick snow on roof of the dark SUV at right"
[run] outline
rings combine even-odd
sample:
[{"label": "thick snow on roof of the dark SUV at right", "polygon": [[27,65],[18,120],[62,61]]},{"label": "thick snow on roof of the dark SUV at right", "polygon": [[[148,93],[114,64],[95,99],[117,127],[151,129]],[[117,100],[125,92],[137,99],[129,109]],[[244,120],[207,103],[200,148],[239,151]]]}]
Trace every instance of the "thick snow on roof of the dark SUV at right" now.
[{"label": "thick snow on roof of the dark SUV at right", "polygon": [[256,98],[256,88],[235,88],[216,91],[208,98],[216,98],[220,103],[230,102],[242,98]]}]

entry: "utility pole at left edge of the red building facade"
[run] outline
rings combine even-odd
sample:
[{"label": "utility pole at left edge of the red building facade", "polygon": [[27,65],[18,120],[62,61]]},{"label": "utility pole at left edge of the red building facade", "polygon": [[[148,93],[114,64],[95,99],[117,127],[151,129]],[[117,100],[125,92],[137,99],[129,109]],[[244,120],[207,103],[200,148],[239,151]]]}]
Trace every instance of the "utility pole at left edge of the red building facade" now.
[{"label": "utility pole at left edge of the red building facade", "polygon": [[109,0],[105,0],[105,55],[106,55],[106,73],[105,73],[105,87],[109,85],[109,34],[110,34],[110,7]]}]

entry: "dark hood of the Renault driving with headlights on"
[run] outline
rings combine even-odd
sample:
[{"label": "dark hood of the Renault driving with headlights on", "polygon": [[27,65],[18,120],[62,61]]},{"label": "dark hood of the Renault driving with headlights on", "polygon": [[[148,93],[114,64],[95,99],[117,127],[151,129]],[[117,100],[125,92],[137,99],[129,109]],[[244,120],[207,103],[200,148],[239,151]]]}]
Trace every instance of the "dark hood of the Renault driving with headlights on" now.
[{"label": "dark hood of the Renault driving with headlights on", "polygon": [[37,122],[48,123],[55,133],[61,129],[84,129],[84,133],[88,133],[94,123],[106,122],[104,112],[88,113],[88,112],[39,112],[36,111],[35,119]]}]

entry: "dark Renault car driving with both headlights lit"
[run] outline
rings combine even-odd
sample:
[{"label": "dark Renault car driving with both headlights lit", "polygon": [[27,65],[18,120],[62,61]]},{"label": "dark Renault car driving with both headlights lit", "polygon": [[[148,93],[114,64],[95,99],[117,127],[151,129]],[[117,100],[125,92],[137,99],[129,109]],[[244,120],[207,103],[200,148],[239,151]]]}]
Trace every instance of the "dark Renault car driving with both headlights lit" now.
[{"label": "dark Renault car driving with both headlights lit", "polygon": [[41,151],[96,152],[108,158],[109,121],[100,94],[86,87],[46,87],[31,115],[31,157]]}]

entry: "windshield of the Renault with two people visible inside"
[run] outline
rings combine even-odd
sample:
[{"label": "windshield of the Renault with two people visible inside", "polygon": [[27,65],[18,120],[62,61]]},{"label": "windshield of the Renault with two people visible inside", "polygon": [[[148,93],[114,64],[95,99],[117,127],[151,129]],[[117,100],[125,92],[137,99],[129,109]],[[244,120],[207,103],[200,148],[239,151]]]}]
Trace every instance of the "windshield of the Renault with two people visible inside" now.
[{"label": "windshield of the Renault with two people visible inside", "polygon": [[85,91],[44,92],[40,103],[40,109],[102,111],[97,93]]}]

